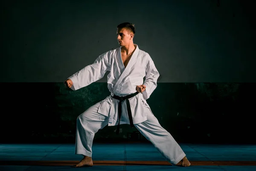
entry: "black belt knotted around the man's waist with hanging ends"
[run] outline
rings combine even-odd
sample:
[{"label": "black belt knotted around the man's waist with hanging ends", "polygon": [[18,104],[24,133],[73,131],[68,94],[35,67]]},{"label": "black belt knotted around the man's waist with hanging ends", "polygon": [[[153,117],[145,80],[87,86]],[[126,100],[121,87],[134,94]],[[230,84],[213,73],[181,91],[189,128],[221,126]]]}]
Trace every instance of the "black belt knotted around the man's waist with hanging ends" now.
[{"label": "black belt knotted around the man's waist with hanging ends", "polygon": [[[120,118],[121,118],[121,113],[122,113],[122,101],[126,101],[127,111],[128,111],[128,117],[129,117],[129,120],[130,120],[130,125],[131,125],[132,128],[134,127],[134,124],[133,124],[133,121],[132,121],[131,106],[130,106],[129,98],[134,97],[134,96],[137,95],[138,93],[139,93],[139,92],[136,92],[136,93],[133,93],[133,94],[130,94],[130,95],[126,95],[126,96],[124,96],[124,97],[119,97],[119,96],[117,96],[117,95],[111,95],[113,98],[119,100],[119,104],[118,104],[118,116],[119,116],[119,121],[118,121],[118,125],[117,125],[117,128],[116,128],[116,134],[117,134],[117,135],[119,134],[119,129],[120,129]],[[111,93],[111,94],[112,94],[112,93]]]}]

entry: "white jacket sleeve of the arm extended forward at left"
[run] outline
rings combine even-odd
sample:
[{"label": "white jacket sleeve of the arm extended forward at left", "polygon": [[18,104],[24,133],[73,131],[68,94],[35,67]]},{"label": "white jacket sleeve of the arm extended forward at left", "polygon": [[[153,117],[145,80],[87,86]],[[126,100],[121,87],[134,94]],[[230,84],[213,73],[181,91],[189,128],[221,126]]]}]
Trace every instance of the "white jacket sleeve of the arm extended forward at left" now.
[{"label": "white jacket sleeve of the arm extended forward at left", "polygon": [[72,90],[79,90],[101,79],[110,70],[110,52],[100,55],[93,64],[87,65],[77,73],[70,76],[73,82]]}]

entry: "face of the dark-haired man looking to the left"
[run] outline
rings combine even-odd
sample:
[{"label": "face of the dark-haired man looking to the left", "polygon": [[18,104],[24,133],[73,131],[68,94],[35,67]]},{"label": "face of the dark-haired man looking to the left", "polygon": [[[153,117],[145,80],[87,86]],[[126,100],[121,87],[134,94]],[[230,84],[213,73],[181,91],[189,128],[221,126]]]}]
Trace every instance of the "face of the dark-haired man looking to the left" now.
[{"label": "face of the dark-haired man looking to the left", "polygon": [[120,46],[126,46],[132,42],[133,33],[125,28],[118,28],[116,35]]}]

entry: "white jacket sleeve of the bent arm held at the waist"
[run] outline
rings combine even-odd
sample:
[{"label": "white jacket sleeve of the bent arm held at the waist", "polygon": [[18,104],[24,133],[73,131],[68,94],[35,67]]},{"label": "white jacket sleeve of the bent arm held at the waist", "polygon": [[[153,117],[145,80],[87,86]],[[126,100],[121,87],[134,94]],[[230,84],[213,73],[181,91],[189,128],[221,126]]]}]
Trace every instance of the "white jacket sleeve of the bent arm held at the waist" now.
[{"label": "white jacket sleeve of the bent arm held at the waist", "polygon": [[154,65],[153,60],[148,55],[148,62],[146,64],[146,78],[144,81],[144,85],[146,86],[145,91],[143,91],[143,98],[147,100],[153,91],[157,88],[157,78],[160,74],[157,71],[157,68]]}]

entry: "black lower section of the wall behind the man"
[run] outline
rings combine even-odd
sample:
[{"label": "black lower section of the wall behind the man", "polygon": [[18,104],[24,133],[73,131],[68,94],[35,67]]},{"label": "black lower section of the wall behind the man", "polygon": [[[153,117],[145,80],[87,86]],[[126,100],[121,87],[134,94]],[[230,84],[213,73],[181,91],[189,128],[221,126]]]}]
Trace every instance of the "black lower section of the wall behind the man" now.
[{"label": "black lower section of the wall behind the man", "polygon": [[[76,118],[109,95],[106,83],[77,91],[63,83],[1,83],[0,143],[74,143]],[[147,100],[178,142],[255,143],[253,83],[158,83]],[[146,141],[129,125],[106,126],[94,141]]]}]

